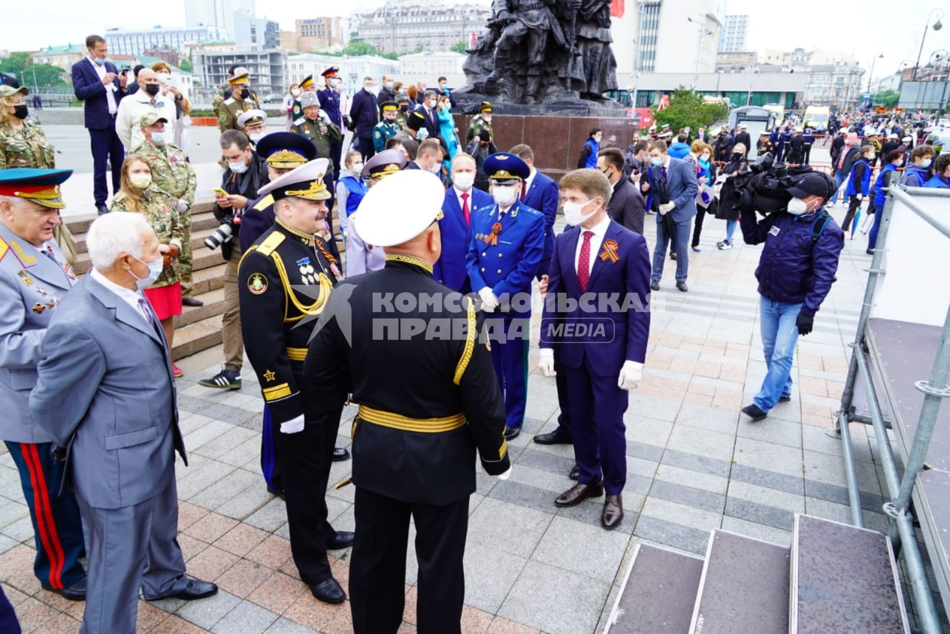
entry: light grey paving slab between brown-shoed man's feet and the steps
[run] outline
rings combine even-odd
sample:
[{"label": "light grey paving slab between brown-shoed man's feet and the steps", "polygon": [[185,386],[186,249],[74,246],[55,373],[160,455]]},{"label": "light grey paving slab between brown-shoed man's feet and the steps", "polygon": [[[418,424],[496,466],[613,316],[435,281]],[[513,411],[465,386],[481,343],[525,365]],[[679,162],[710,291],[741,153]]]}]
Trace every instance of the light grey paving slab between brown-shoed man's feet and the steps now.
[{"label": "light grey paving slab between brown-shoed man's feet and the steps", "polygon": [[630,537],[567,517],[555,517],[531,559],[611,584]]}]

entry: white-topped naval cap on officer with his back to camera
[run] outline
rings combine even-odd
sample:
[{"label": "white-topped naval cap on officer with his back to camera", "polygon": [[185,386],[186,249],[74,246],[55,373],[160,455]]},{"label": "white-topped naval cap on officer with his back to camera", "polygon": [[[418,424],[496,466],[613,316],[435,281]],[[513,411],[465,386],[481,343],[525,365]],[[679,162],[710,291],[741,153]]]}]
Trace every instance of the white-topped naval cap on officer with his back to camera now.
[{"label": "white-topped naval cap on officer with his back to camera", "polygon": [[[367,244],[394,247],[409,242],[441,219],[445,199],[446,188],[439,177],[425,170],[406,170],[373,185],[350,222],[356,223],[356,232]],[[394,205],[394,200],[412,203]]]}]

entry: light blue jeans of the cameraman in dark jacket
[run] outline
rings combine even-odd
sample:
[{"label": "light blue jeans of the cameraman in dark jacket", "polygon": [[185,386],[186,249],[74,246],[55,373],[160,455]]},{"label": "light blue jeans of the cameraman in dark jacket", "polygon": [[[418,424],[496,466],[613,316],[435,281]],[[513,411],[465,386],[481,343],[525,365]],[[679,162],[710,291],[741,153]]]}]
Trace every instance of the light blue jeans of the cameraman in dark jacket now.
[{"label": "light blue jeans of the cameraman in dark jacket", "polygon": [[801,304],[774,302],[759,296],[759,322],[768,371],[753,401],[763,412],[774,407],[779,397],[791,395],[791,361],[798,341],[795,320],[801,309]]}]

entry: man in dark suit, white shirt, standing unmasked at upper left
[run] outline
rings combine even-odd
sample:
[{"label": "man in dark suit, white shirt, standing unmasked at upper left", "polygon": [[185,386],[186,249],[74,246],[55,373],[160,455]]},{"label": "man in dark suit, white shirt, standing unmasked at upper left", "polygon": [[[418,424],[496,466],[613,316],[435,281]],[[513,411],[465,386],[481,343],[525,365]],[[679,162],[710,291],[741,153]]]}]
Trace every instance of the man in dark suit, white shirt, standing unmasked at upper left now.
[{"label": "man in dark suit, white shirt, standing unmasked at upper left", "polygon": [[105,163],[112,163],[112,193],[119,191],[122,179],[122,161],[125,149],[116,134],[116,113],[125,96],[125,76],[111,62],[105,61],[108,52],[100,35],[85,38],[89,56],[72,65],[72,91],[83,103],[85,127],[92,145],[92,188],[96,209],[108,212],[105,199],[109,190],[105,184]]}]

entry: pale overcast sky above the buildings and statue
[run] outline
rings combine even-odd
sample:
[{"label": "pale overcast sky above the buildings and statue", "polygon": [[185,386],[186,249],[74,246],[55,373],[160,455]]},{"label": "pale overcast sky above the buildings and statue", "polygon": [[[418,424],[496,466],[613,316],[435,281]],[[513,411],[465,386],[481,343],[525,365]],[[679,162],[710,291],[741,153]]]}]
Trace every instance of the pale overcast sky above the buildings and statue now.
[{"label": "pale overcast sky above the buildings and statue", "polygon": [[[428,2],[428,0],[420,0]],[[463,0],[446,0],[461,4]],[[472,1],[472,0],[469,0]],[[474,0],[488,4],[488,0]],[[675,2],[675,0],[666,0]],[[637,0],[626,0],[628,10]],[[852,51],[864,67],[871,58],[883,53],[874,68],[875,77],[894,72],[904,60],[911,64],[917,58],[921,32],[927,14],[942,4],[930,2],[895,2],[894,0],[864,0],[839,2],[837,0],[797,0],[782,6],[761,0],[726,0],[727,13],[746,13],[750,19],[749,48],[767,47],[792,49],[832,48]],[[40,0],[5,3],[4,36],[0,47],[11,50],[36,49],[81,42],[89,33],[102,33],[105,28],[143,28],[155,25],[177,27],[184,24],[182,0],[155,3],[163,10],[146,17],[145,5],[129,10],[127,0],[98,0],[94,5],[75,0]],[[277,20],[281,28],[294,28],[295,18],[317,17],[315,12],[365,10],[380,7],[384,0],[356,0],[352,3],[299,3],[257,0],[258,13]],[[313,7],[308,14],[307,6]],[[322,5],[322,7],[321,7]],[[331,7],[327,7],[331,5]],[[265,10],[266,9],[266,10]],[[339,12],[342,14],[342,12]],[[940,15],[937,11],[934,16]],[[103,18],[102,16],[111,16]],[[935,19],[930,20],[931,26]],[[950,48],[950,15],[942,20],[944,28],[927,32],[921,56],[924,64],[929,53]]]}]

